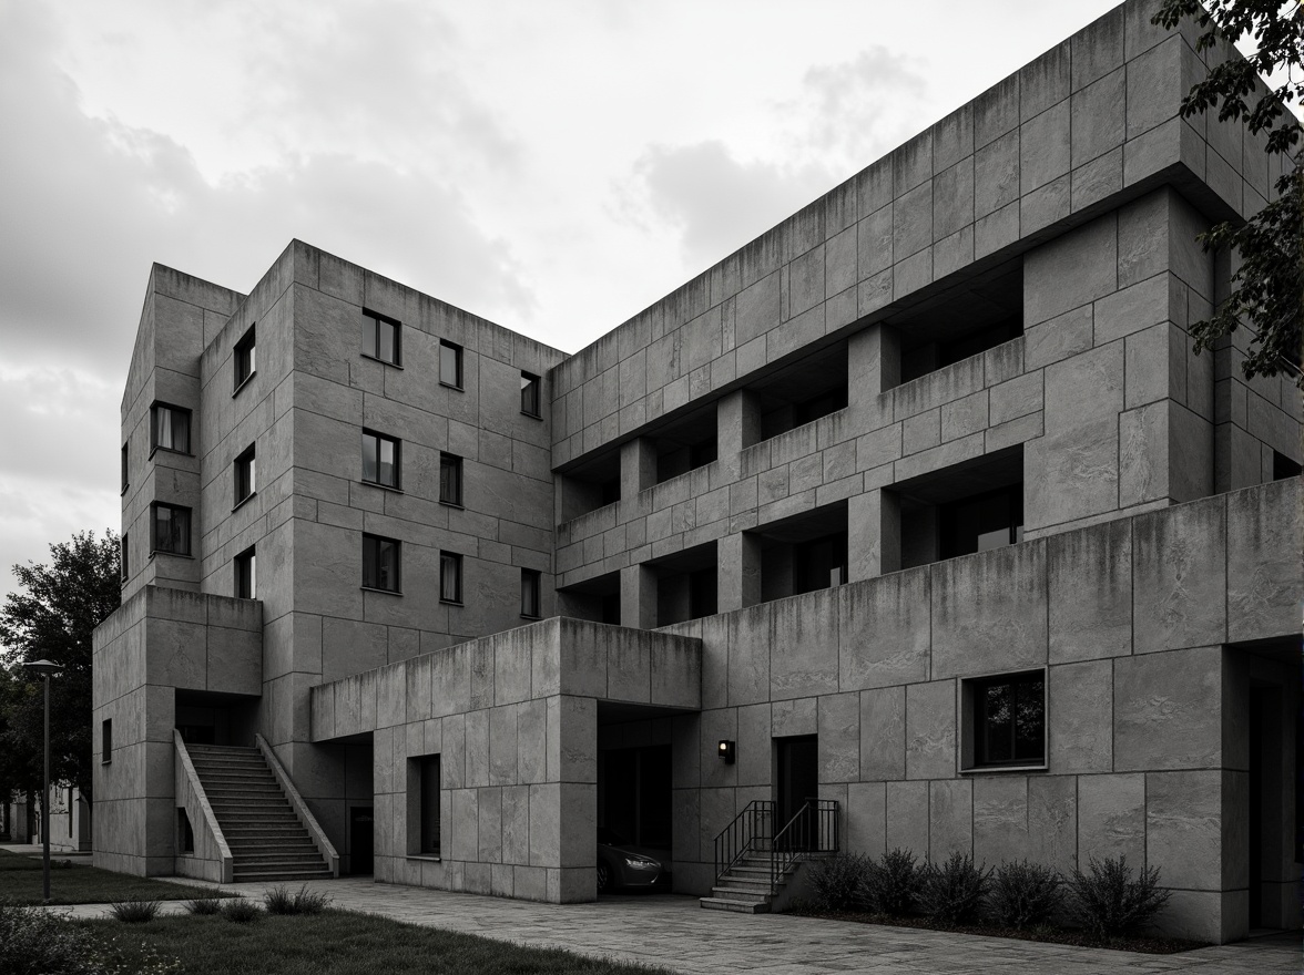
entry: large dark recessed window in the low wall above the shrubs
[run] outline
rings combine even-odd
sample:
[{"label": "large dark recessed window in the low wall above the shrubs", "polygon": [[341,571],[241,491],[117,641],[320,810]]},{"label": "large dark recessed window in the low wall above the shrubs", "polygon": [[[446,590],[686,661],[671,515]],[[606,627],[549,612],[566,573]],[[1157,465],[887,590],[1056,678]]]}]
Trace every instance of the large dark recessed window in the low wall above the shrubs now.
[{"label": "large dark recessed window in the low wall above the shrubs", "polygon": [[1046,671],[965,680],[962,765],[966,769],[1046,765]]}]

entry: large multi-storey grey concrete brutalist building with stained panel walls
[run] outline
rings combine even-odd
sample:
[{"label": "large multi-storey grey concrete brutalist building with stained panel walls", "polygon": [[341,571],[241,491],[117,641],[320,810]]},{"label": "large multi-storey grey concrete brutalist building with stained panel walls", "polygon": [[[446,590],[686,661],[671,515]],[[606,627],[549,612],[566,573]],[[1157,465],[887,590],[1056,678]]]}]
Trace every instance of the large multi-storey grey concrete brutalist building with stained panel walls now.
[{"label": "large multi-storey grey concrete brutalist building with stained panel walls", "polygon": [[1300,399],[1188,334],[1281,164],[1153,7],[572,356],[299,241],[155,266],[95,862],[569,902],[605,829],[739,906],[717,839],[807,816],[1299,925]]}]

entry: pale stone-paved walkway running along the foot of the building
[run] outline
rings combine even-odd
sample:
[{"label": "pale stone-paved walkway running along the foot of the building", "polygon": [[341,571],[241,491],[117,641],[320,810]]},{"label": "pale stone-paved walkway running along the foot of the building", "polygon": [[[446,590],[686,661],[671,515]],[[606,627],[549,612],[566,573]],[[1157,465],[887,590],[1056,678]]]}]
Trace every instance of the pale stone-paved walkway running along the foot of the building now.
[{"label": "pale stone-paved walkway running along the foot of the building", "polygon": [[[228,884],[222,889],[259,898],[273,886],[276,885]],[[1301,957],[1299,933],[1153,955],[812,918],[704,911],[696,898],[678,895],[604,897],[597,903],[556,906],[373,884],[365,877],[312,881],[308,888],[331,897],[335,907],[351,911],[535,948],[563,948],[644,962],[690,975],[734,971],[760,975],[836,971],[874,975],[1299,975]],[[93,918],[102,916],[106,906],[59,910],[77,918]],[[171,914],[183,907],[173,903],[164,910]]]}]

